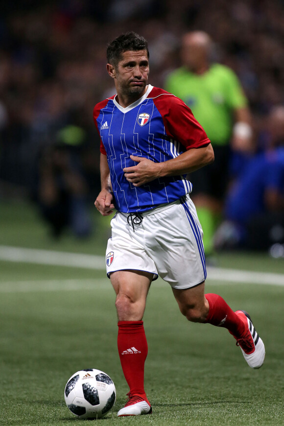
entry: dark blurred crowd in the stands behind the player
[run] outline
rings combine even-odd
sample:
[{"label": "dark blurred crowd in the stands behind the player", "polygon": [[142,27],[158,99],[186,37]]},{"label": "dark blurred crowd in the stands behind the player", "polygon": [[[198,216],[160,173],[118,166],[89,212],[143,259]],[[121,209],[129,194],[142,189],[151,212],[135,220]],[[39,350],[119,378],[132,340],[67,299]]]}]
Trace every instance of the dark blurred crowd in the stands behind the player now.
[{"label": "dark blurred crowd in the stands behind the player", "polygon": [[[68,186],[77,195],[74,232],[89,234],[82,206],[87,199],[92,207],[100,188],[93,108],[115,94],[106,45],[129,30],[148,40],[149,82],[162,88],[180,66],[183,34],[208,32],[214,60],[237,73],[248,97],[253,155],[266,148],[269,114],[284,105],[283,0],[23,0],[0,7],[0,199],[25,197],[41,206]],[[51,164],[64,178],[52,181]],[[42,212],[58,218],[55,236],[65,208],[63,197],[57,211]]]}]

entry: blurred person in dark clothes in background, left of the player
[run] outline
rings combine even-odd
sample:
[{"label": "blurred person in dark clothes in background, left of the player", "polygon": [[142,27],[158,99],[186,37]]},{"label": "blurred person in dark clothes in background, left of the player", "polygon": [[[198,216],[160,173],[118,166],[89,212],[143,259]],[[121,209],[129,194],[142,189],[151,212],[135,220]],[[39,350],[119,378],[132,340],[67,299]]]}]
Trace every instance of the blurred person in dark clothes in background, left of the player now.
[{"label": "blurred person in dark clothes in background, left of the player", "polygon": [[35,200],[56,238],[67,228],[76,237],[91,233],[88,186],[79,162],[84,140],[82,128],[66,126],[58,132],[56,143],[43,149],[39,159]]}]

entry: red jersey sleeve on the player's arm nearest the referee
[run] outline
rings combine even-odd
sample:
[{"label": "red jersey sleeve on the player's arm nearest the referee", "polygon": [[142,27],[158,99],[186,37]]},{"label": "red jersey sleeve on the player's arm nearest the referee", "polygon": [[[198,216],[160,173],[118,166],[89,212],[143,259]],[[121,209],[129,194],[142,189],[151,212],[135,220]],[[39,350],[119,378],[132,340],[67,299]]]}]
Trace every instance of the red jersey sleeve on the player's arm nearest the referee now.
[{"label": "red jersey sleeve on the player's arm nearest the referee", "polygon": [[153,100],[163,118],[168,136],[182,143],[187,150],[210,143],[205,130],[184,101],[165,91],[155,96]]}]

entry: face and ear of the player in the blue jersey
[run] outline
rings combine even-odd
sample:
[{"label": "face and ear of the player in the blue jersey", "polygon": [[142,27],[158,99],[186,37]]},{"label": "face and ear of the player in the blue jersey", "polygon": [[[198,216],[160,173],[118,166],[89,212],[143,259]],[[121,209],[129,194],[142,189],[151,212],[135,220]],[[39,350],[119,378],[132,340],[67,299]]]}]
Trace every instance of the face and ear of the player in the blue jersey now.
[{"label": "face and ear of the player in the blue jersey", "polygon": [[118,96],[139,98],[146,91],[149,75],[147,50],[127,50],[116,67],[108,64],[109,74],[115,79]]}]

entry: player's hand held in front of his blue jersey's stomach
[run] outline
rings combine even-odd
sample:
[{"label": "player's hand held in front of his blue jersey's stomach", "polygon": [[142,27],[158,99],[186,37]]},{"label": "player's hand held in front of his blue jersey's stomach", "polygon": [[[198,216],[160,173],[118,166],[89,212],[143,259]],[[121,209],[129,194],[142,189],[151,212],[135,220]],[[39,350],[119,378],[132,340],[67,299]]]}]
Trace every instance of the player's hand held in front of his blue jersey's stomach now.
[{"label": "player's hand held in front of his blue jersey's stomach", "polygon": [[136,157],[134,155],[130,155],[130,158],[138,163],[138,165],[124,167],[123,171],[126,180],[132,183],[134,187],[140,187],[160,176],[162,163],[154,163],[147,158]]}]

